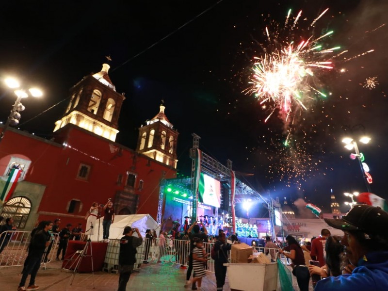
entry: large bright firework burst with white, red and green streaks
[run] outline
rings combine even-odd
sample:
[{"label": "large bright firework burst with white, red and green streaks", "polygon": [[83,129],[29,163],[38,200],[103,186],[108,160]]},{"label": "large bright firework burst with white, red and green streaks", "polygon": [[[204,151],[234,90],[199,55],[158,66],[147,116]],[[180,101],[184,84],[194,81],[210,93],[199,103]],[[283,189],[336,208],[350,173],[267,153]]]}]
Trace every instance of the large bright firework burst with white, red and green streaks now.
[{"label": "large bright firework burst with white, red and green streaks", "polygon": [[293,21],[290,21],[289,11],[282,29],[275,22],[272,22],[272,28],[265,28],[268,45],[263,46],[263,55],[254,58],[253,74],[249,81],[251,86],[245,90],[246,94],[258,98],[260,104],[268,103],[270,114],[265,122],[276,109],[287,121],[297,109],[307,110],[309,100],[326,97],[323,90],[316,86],[318,76],[325,70],[331,70],[332,59],[343,53],[337,53],[340,47],[325,48],[321,43],[333,31],[314,37],[314,25],[327,10],[311,22],[306,38],[297,33],[302,11]]}]

